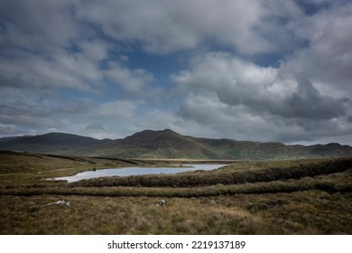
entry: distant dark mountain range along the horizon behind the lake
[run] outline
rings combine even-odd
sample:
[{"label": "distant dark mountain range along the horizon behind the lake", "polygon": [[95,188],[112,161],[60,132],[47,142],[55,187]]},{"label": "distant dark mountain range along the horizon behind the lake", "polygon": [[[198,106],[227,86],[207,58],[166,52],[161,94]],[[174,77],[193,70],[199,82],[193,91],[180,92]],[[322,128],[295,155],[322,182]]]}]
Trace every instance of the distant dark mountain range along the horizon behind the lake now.
[{"label": "distant dark mountain range along the horizon behind the lake", "polygon": [[277,142],[210,139],[181,136],[170,129],[144,130],[116,140],[63,133],[4,137],[0,138],[0,150],[109,158],[290,159],[352,156],[351,146],[337,143],[284,145]]}]

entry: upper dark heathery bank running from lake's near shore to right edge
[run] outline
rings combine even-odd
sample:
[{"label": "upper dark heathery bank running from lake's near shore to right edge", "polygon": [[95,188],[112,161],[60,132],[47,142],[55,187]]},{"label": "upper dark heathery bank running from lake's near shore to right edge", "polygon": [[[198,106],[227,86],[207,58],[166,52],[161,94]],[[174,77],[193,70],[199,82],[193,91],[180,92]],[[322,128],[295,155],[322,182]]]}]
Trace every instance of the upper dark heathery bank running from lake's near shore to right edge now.
[{"label": "upper dark heathery bank running from lake's near shore to right edge", "polygon": [[[305,163],[304,163],[305,162]],[[144,187],[187,187],[240,183],[273,182],[278,180],[300,179],[314,177],[320,174],[341,173],[352,168],[352,159],[316,160],[314,162],[298,163],[292,166],[259,167],[253,169],[238,169],[238,164],[229,165],[225,169],[214,172],[199,171],[196,173],[161,174],[126,177],[107,177],[82,180],[71,183],[71,186],[144,186]],[[259,165],[260,166],[260,165]]]}]

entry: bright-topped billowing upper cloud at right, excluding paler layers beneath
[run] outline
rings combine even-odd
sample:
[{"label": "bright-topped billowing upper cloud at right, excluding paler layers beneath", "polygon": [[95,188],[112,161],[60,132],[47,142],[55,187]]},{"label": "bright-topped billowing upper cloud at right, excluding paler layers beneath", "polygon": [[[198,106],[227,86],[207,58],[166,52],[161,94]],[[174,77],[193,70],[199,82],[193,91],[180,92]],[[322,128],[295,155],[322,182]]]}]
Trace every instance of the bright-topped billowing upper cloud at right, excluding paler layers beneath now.
[{"label": "bright-topped billowing upper cloud at right, excluding paler layers beneath", "polygon": [[172,75],[179,85],[208,89],[228,105],[280,117],[327,118],[345,115],[343,103],[320,94],[309,80],[282,80],[279,69],[260,67],[224,52],[210,52],[191,70]]}]

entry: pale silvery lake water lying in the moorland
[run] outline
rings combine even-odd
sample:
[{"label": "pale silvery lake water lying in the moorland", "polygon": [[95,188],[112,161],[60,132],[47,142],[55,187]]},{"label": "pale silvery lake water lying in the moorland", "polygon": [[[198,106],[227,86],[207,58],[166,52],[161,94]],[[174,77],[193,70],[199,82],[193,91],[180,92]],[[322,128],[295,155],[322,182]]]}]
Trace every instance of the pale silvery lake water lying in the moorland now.
[{"label": "pale silvery lake water lying in the moorland", "polygon": [[129,176],[143,174],[170,174],[170,173],[185,173],[192,171],[211,171],[227,164],[182,164],[182,167],[122,167],[116,169],[103,169],[97,171],[88,171],[77,173],[72,176],[56,177],[55,180],[65,180],[69,183],[76,182],[82,179],[90,179],[107,176]]}]

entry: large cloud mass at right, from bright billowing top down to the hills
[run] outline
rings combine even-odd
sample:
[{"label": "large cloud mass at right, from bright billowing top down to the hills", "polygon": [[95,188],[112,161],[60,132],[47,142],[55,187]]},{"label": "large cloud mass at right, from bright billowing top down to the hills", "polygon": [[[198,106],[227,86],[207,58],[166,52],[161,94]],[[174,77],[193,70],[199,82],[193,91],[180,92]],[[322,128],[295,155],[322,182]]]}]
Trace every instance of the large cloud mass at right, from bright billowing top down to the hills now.
[{"label": "large cloud mass at right, from bright billowing top down to the hills", "polygon": [[[171,76],[184,92],[192,94],[181,105],[179,116],[218,133],[262,140],[270,136],[292,141],[352,132],[345,123],[346,100],[322,94],[310,80],[283,79],[281,71],[225,52],[197,57],[190,70]],[[242,134],[231,134],[236,131]]]}]

